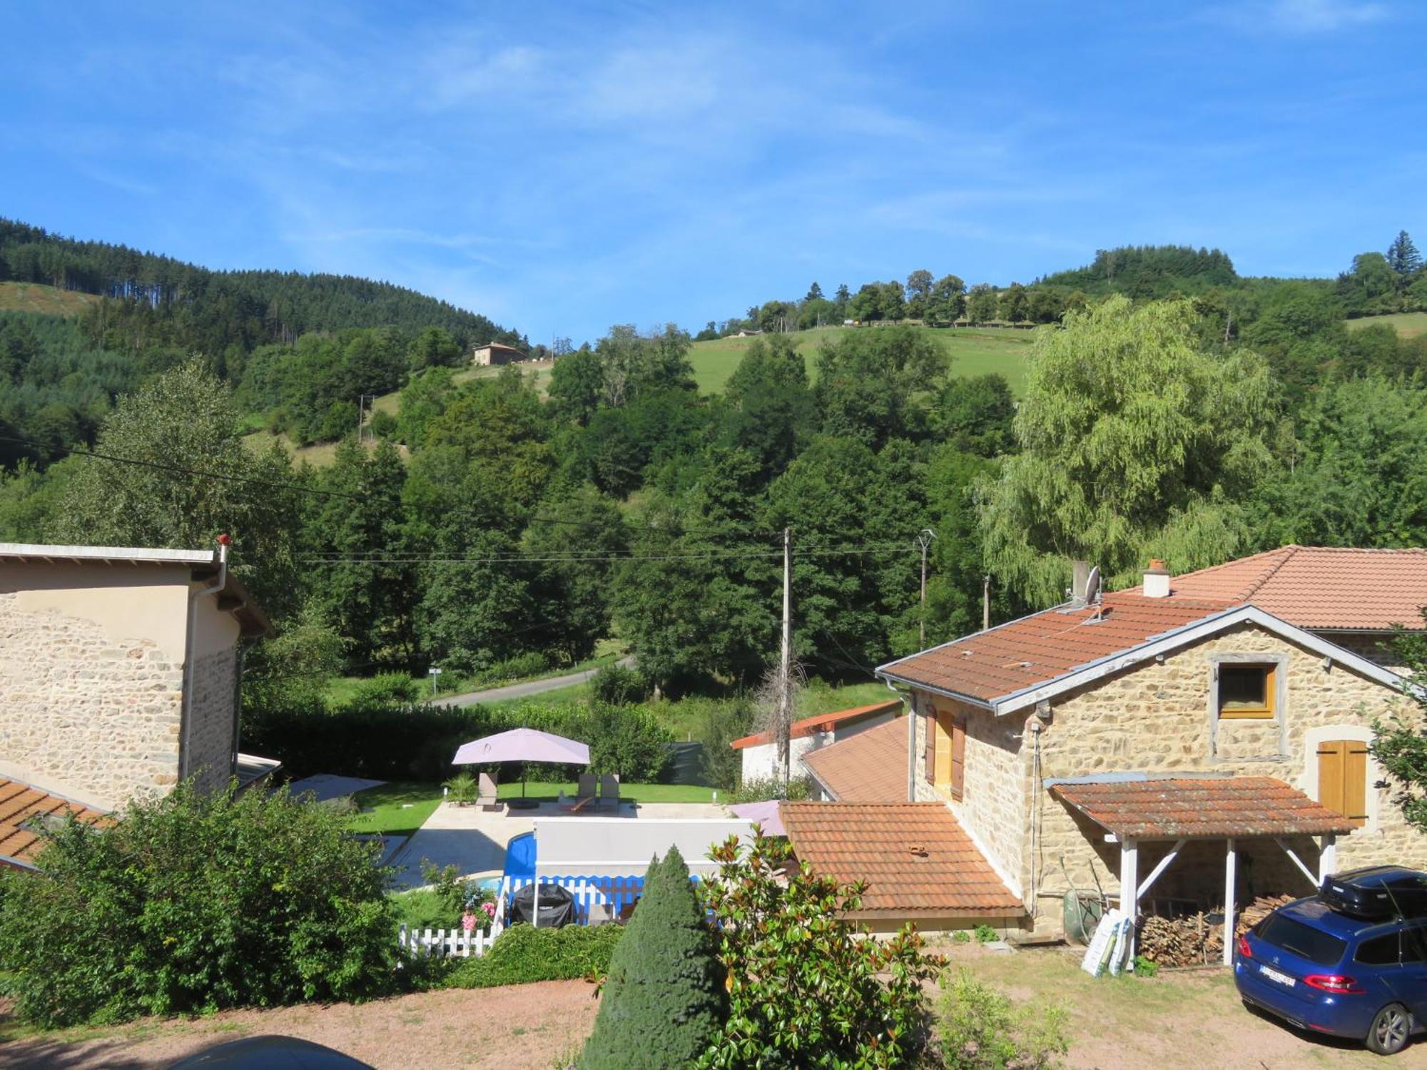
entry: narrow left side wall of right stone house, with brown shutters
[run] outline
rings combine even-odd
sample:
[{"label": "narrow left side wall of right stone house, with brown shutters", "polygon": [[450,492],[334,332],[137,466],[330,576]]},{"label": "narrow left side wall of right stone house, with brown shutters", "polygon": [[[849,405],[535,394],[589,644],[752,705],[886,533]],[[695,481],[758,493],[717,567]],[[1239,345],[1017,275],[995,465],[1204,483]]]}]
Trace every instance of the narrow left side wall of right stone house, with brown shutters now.
[{"label": "narrow left side wall of right stone house, with brown shutters", "polygon": [[1026,833],[1026,768],[1022,758],[1020,718],[996,718],[985,709],[953,699],[918,695],[916,712],[940,710],[966,718],[966,753],[962,799],[926,780],[926,719],[916,725],[916,798],[943,802],[976,842],[986,860],[1016,892],[1020,882]]}]

